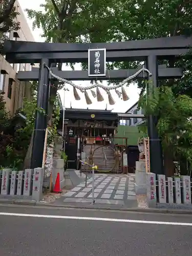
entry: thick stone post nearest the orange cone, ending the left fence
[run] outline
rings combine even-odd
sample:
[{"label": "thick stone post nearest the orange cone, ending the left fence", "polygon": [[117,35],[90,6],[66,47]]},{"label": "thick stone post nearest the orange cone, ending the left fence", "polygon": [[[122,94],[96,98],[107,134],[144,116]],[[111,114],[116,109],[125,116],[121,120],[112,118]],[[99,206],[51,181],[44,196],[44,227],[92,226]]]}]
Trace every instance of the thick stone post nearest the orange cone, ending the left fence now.
[{"label": "thick stone post nearest the orange cone, ending the left fence", "polygon": [[44,168],[35,168],[33,175],[32,200],[42,199],[42,183],[44,181]]}]

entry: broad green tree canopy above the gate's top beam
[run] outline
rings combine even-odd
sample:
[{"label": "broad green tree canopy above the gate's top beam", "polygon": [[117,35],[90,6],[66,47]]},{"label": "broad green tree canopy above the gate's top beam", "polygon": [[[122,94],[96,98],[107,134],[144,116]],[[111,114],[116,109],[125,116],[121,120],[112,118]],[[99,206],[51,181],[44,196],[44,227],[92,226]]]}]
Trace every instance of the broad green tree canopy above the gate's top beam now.
[{"label": "broad green tree canopy above the gate's top beam", "polygon": [[[49,42],[138,40],[189,35],[192,31],[192,2],[189,0],[46,0],[41,7],[43,11],[27,12],[34,19],[33,27],[42,28],[42,36]],[[173,61],[160,63],[174,66]],[[184,69],[184,77],[161,81],[161,86],[172,87],[174,97],[192,96],[191,63],[190,56],[183,57],[183,61],[177,61],[175,65]],[[139,64],[139,61],[126,61],[108,63],[108,66],[110,69],[129,69]],[[142,95],[145,83],[137,84]],[[161,118],[161,114],[158,117]]]}]

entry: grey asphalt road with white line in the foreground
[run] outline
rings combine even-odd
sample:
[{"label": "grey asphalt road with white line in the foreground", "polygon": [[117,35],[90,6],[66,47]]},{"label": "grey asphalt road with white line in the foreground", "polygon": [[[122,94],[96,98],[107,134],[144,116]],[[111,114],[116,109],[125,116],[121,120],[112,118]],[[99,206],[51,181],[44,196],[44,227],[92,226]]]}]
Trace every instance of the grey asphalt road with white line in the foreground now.
[{"label": "grey asphalt road with white line in the foreground", "polygon": [[189,256],[192,251],[190,215],[27,206],[0,206],[0,215],[1,256]]}]

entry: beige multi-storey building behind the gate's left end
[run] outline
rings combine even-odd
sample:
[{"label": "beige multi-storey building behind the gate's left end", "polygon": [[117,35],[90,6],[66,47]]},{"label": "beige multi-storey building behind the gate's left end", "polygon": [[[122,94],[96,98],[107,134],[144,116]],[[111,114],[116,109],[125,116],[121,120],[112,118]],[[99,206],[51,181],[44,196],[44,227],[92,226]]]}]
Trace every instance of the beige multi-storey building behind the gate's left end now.
[{"label": "beige multi-storey building behind the gate's left end", "polygon": [[[11,31],[7,34],[9,40],[34,41],[33,34],[27,24],[27,19],[18,1],[15,2],[18,22],[20,22],[20,29],[18,31]],[[11,64],[0,56],[0,94],[3,94],[6,108],[11,115],[23,106],[23,100],[27,97],[31,98],[31,83],[20,82],[16,79],[18,71],[30,71],[31,65],[28,63]]]}]

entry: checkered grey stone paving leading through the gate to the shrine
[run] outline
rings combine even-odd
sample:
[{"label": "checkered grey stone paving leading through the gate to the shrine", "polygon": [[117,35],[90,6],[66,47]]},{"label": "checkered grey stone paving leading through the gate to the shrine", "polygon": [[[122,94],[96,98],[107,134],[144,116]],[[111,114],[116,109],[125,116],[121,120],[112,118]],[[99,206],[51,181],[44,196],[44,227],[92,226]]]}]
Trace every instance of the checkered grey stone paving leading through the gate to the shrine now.
[{"label": "checkered grey stone paving leading through the gate to the shrine", "polygon": [[[79,176],[79,171],[75,171]],[[84,176],[84,174],[82,174]],[[80,183],[62,195],[63,203],[86,203],[92,201],[92,177]],[[95,203],[129,205],[130,200],[137,200],[134,192],[134,175],[95,174]]]}]

